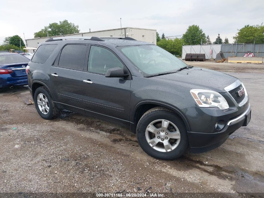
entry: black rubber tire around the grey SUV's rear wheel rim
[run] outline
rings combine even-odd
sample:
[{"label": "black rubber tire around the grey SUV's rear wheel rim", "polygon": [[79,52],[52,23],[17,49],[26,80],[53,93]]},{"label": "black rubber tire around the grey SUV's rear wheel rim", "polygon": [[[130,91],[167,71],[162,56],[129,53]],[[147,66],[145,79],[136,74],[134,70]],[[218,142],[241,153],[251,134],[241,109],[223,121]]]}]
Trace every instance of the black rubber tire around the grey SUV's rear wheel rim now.
[{"label": "black rubber tire around the grey SUV's rear wheel rim", "polygon": [[[37,96],[40,93],[44,94],[47,97],[48,104],[49,104],[49,111],[47,114],[43,114],[38,107]],[[60,110],[57,109],[48,89],[44,86],[36,89],[35,94],[34,94],[34,104],[37,109],[37,113],[44,119],[53,119],[53,118],[56,118],[60,114]]]}]

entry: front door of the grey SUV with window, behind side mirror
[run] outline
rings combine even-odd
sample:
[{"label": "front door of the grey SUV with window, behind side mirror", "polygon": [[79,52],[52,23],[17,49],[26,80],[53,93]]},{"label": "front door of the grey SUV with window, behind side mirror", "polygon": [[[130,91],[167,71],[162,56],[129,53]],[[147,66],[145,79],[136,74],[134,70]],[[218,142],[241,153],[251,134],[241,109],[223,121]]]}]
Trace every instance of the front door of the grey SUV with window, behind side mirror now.
[{"label": "front door of the grey SUV with window, behind side mirror", "polygon": [[130,79],[106,78],[107,69],[123,63],[107,48],[91,46],[88,71],[83,71],[81,83],[86,113],[129,124]]}]

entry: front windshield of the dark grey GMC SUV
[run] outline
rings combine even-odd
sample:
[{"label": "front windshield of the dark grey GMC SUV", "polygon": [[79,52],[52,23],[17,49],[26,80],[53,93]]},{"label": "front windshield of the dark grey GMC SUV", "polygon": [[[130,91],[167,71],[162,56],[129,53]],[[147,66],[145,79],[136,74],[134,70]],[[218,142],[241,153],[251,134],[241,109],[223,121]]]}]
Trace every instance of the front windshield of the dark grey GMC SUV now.
[{"label": "front windshield of the dark grey GMC SUV", "polygon": [[187,64],[157,45],[118,47],[143,76],[177,71]]}]

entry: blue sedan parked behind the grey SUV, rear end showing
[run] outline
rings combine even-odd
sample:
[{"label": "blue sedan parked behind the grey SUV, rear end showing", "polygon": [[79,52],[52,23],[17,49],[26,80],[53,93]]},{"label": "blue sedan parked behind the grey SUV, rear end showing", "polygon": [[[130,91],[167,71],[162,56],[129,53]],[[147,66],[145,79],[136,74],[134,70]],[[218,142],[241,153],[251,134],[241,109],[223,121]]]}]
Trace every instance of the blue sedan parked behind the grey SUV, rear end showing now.
[{"label": "blue sedan parked behind the grey SUV, rear end showing", "polygon": [[0,53],[0,89],[27,85],[26,67],[30,60],[17,53]]}]

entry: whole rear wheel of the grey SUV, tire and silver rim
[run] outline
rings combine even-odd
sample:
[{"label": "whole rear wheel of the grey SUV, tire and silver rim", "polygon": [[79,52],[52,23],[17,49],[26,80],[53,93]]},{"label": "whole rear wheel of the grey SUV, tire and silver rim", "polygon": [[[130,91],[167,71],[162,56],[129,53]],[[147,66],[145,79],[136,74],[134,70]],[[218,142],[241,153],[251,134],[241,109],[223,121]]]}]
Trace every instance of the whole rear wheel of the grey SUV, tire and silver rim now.
[{"label": "whole rear wheel of the grey SUV, tire and silver rim", "polygon": [[44,86],[36,89],[34,103],[37,113],[44,119],[53,119],[60,114],[60,110],[55,106],[51,94]]}]

